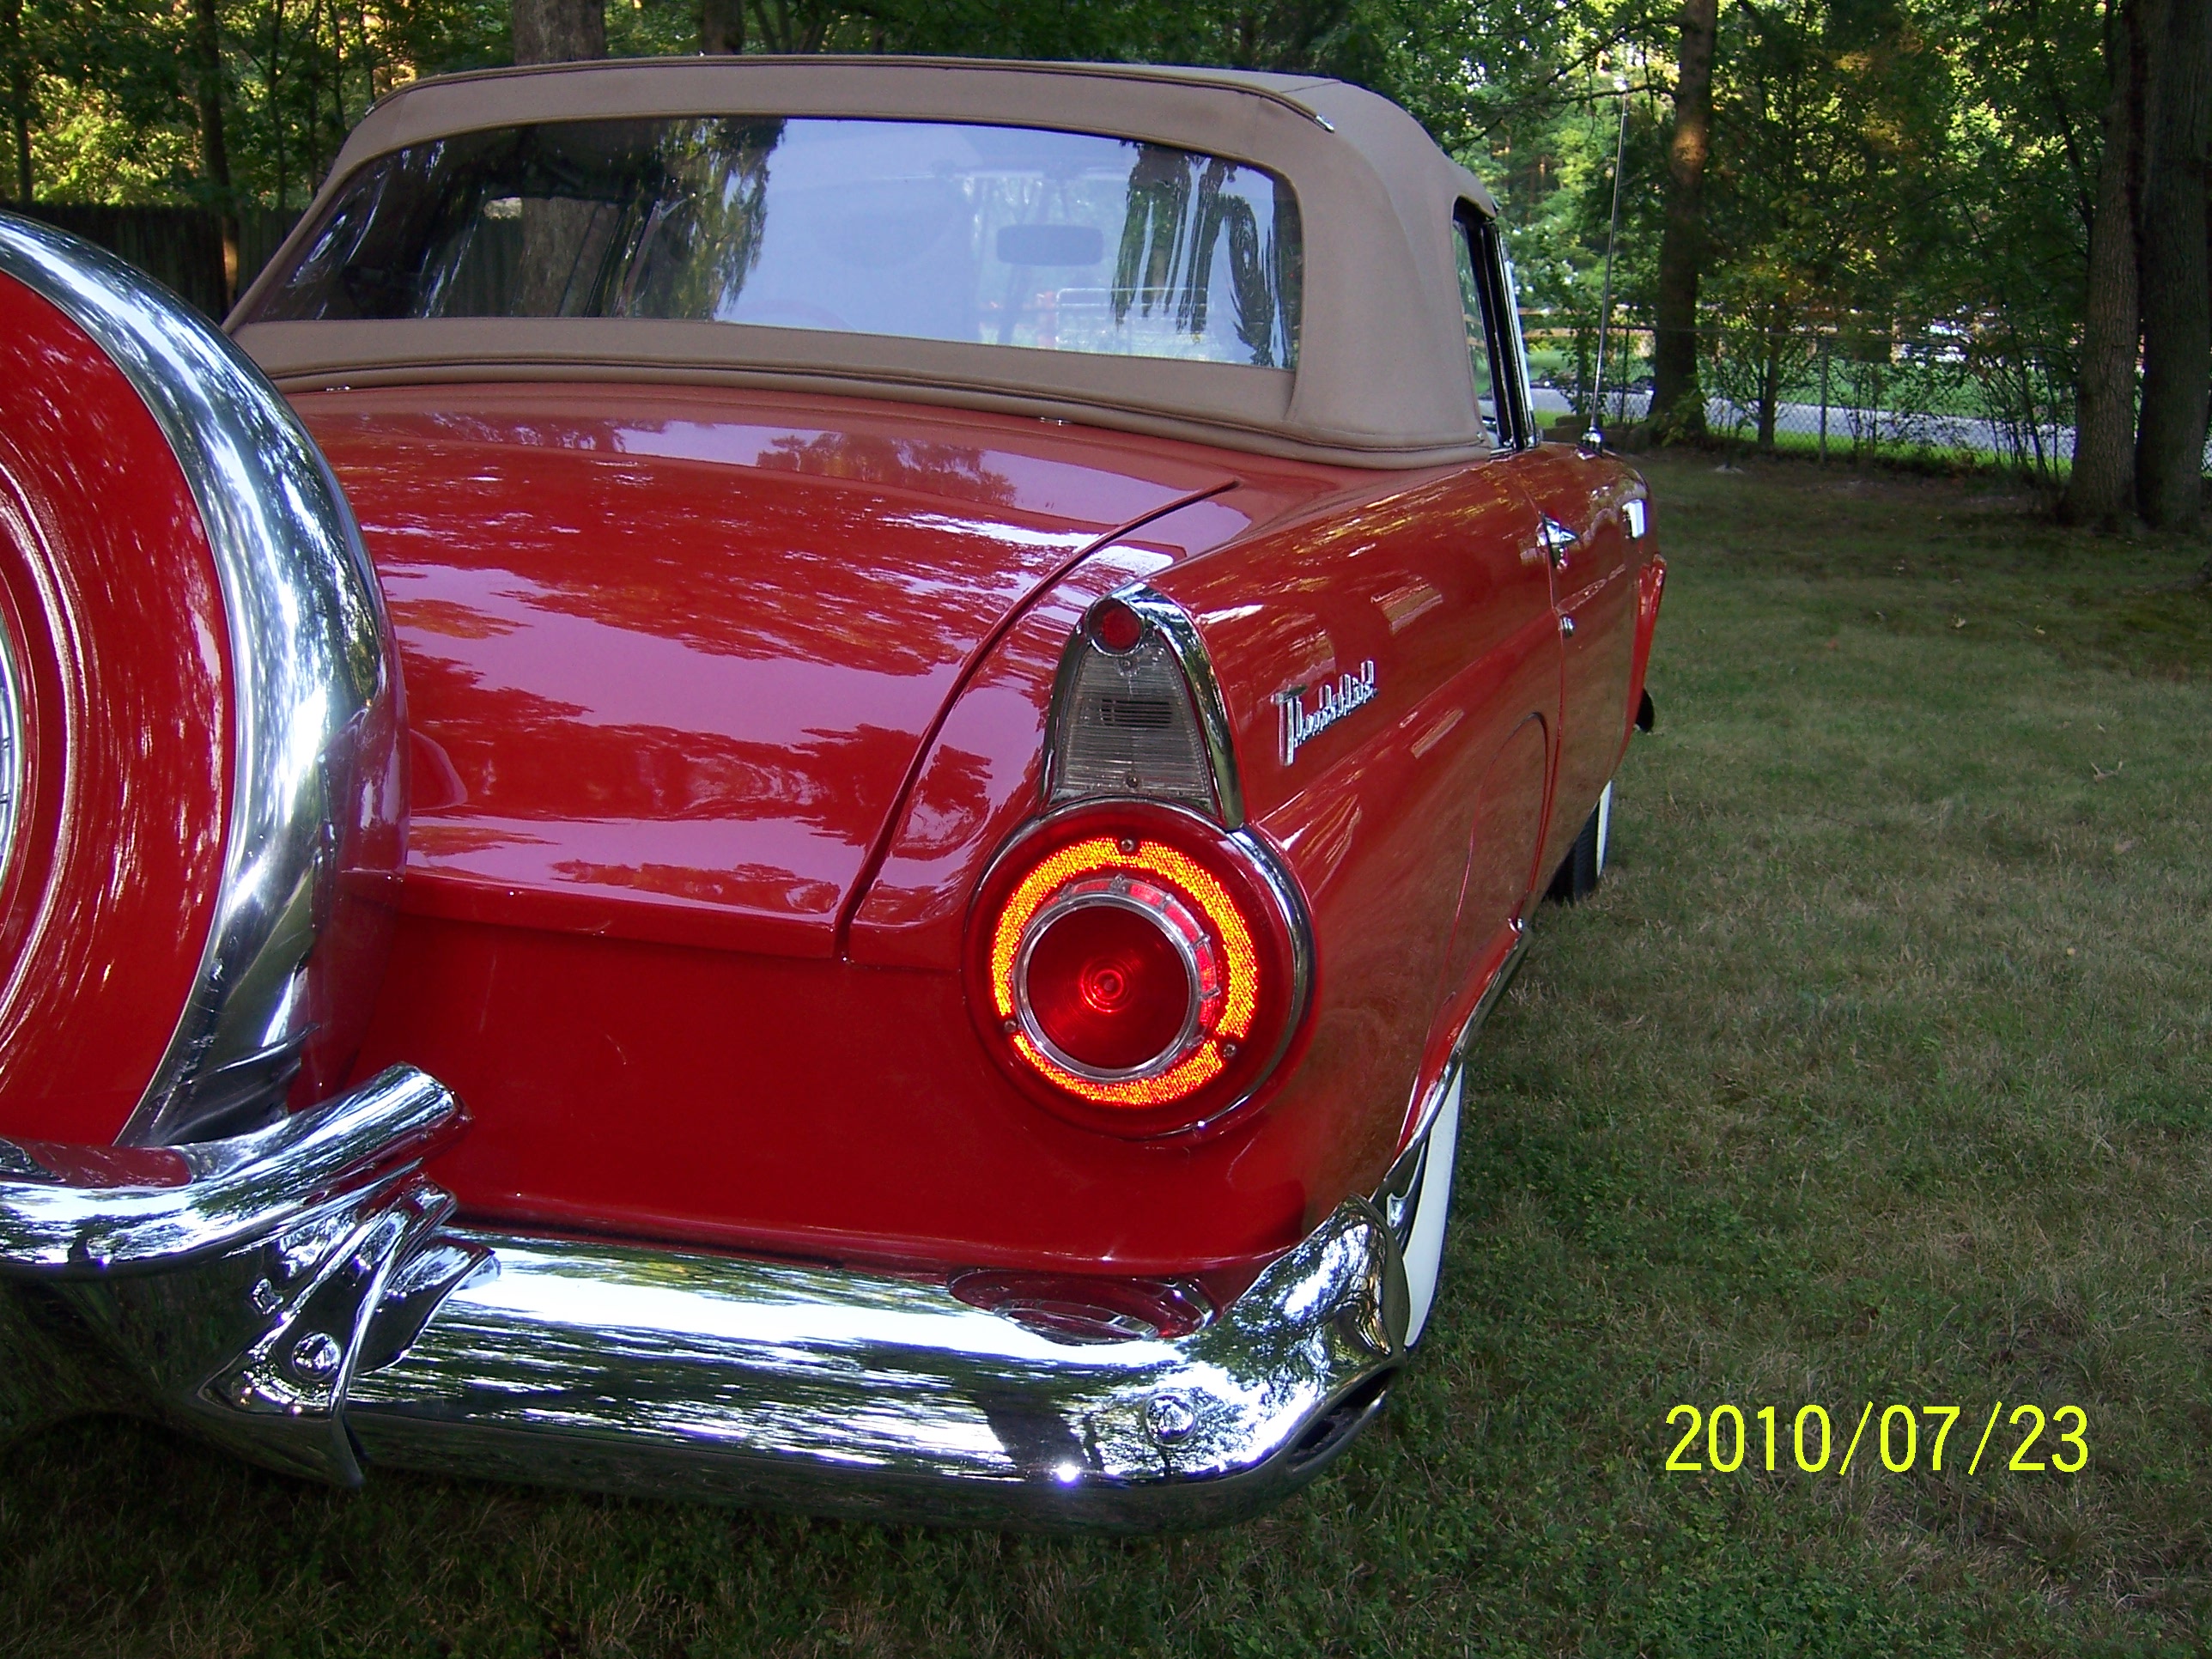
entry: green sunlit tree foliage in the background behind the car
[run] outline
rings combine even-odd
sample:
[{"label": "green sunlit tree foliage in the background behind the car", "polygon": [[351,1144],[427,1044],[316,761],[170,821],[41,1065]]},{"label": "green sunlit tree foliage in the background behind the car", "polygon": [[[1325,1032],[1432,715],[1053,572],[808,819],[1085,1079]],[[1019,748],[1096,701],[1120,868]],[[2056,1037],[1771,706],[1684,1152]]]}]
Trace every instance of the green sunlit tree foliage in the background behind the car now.
[{"label": "green sunlit tree foliage in the background behind the car", "polygon": [[[9,7],[20,24],[9,24]],[[219,0],[232,199],[296,206],[383,91],[509,53],[504,0]],[[208,201],[188,0],[0,0],[31,64],[40,192]],[[608,49],[699,42],[697,0],[611,0]],[[1652,316],[1677,13],[1661,0],[750,0],[748,51],[1312,71],[1374,86],[1491,181],[1540,372],[1586,385],[1621,100],[1617,325]],[[1705,301],[1730,392],[1803,378],[1814,332],[1975,336],[2026,431],[2064,418],[2104,100],[2099,0],[1730,0]],[[0,102],[11,93],[0,75]],[[1637,334],[1635,338],[1641,338]],[[1626,356],[1639,347],[1630,345]],[[1610,356],[1624,356],[1615,338]],[[1630,361],[1628,374],[1632,376]]]}]

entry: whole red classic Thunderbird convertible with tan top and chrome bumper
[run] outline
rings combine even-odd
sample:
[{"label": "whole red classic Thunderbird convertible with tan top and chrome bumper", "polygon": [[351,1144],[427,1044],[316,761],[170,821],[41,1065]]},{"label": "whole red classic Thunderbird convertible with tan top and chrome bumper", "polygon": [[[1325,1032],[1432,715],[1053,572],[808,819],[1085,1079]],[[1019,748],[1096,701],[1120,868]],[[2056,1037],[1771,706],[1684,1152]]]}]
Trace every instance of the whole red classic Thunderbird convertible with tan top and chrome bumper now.
[{"label": "whole red classic Thunderbird convertible with tan top and chrome bumper", "polygon": [[0,1429],[1148,1528],[1378,1411],[1663,575],[1402,111],[460,75],[223,334],[0,321]]}]

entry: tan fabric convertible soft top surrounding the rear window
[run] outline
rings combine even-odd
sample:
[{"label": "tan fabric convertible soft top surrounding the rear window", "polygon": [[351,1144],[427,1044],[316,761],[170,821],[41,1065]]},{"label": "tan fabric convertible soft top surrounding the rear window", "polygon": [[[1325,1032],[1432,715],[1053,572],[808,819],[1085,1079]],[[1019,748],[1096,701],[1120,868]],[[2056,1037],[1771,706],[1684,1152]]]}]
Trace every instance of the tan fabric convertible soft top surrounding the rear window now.
[{"label": "tan fabric convertible soft top surrounding the rear window", "polygon": [[[639,319],[250,323],[363,161],[451,133],[653,115],[818,115],[1148,139],[1283,175],[1305,230],[1296,369],[887,334]],[[661,58],[442,75],[354,128],[299,230],[232,312],[288,389],[403,380],[728,380],[1046,414],[1356,467],[1484,449],[1453,215],[1495,215],[1402,108],[1334,80],[960,58]]]}]

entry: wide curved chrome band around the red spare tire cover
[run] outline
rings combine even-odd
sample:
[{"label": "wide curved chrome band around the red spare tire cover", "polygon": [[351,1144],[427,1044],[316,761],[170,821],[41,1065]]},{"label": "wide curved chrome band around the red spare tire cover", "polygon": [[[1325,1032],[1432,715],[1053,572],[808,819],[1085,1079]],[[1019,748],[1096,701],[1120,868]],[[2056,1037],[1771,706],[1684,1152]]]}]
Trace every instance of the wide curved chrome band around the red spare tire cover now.
[{"label": "wide curved chrome band around the red spare tire cover", "polygon": [[376,949],[376,878],[400,858],[383,597],[305,427],[190,305],[108,252],[4,212],[0,272],[124,372],[215,555],[234,703],[223,878],[199,978],[119,1141],[232,1133],[281,1113],[307,1035],[341,1018],[338,1004],[365,1002],[358,987],[330,995],[325,980],[345,975],[336,951]]}]

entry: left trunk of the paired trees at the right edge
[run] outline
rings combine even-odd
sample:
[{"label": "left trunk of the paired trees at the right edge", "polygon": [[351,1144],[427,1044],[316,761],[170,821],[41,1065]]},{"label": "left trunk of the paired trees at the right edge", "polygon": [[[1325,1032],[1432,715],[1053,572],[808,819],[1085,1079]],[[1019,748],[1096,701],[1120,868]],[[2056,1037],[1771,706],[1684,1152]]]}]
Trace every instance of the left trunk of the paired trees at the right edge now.
[{"label": "left trunk of the paired trees at the right edge", "polygon": [[2075,394],[2075,465],[2059,502],[2068,524],[2115,529],[2135,509],[2135,347],[2143,334],[2137,292],[2137,223],[2143,166],[2143,24],[2157,0],[2124,0],[2106,33],[2104,159],[2088,232],[2088,299],[2081,319],[2081,385]]}]

